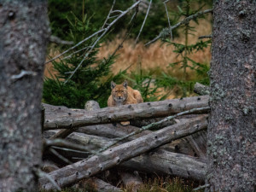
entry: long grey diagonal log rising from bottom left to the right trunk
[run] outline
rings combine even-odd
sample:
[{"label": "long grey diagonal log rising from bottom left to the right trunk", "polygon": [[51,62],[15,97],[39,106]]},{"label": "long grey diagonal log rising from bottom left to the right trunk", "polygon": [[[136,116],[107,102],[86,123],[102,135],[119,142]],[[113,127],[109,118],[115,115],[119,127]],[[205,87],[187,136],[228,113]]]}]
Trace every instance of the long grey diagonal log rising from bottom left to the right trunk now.
[{"label": "long grey diagonal log rising from bottom left to the right trunk", "polygon": [[[83,178],[91,177],[98,172],[107,170],[125,160],[130,160],[152,148],[160,147],[163,144],[170,143],[172,140],[185,137],[206,128],[207,116],[183,121],[160,131],[155,131],[147,136],[137,138],[129,143],[110,148],[100,155],[94,155],[87,160],[78,161],[73,165],[51,172],[49,175],[53,177],[56,183],[64,187]],[[44,177],[40,179],[40,184],[44,189],[52,189],[54,187]]]}]

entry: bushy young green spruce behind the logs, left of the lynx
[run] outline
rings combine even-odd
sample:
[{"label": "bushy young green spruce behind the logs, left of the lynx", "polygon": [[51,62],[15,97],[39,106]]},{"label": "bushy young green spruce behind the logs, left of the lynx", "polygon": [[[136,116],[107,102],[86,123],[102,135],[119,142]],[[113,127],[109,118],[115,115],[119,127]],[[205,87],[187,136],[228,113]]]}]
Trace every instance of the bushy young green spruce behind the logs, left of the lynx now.
[{"label": "bushy young green spruce behind the logs, left of the lynx", "polygon": [[[68,35],[75,44],[96,31],[90,26],[90,19],[86,15],[83,15],[81,20],[75,15],[68,20],[71,27]],[[84,48],[90,49],[95,40],[92,38],[79,45],[66,59],[52,62],[57,73],[52,75],[52,78],[44,80],[44,102],[68,108],[84,108],[85,102],[96,100],[101,107],[106,107],[111,91],[110,82],[120,79],[125,71],[117,75],[110,73],[115,55],[109,55],[102,60],[97,59],[99,44],[95,49],[91,49],[89,54],[84,52]],[[86,55],[84,62],[69,79]]]}]

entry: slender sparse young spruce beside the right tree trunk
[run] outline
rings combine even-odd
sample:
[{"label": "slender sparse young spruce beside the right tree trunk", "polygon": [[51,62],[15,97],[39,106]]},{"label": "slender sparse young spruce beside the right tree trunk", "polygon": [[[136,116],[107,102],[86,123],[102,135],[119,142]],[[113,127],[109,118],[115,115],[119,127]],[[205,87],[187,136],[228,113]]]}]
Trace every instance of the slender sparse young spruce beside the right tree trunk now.
[{"label": "slender sparse young spruce beside the right tree trunk", "polygon": [[[192,3],[201,4],[201,1],[183,0],[181,1],[181,5],[177,6],[178,11],[172,13],[172,15],[175,15],[176,18],[189,17],[190,15],[195,15],[204,7],[203,4],[200,6],[199,9],[191,9]],[[195,23],[198,24],[198,20],[200,18],[204,18],[204,16],[202,15],[201,17],[195,18]],[[195,32],[195,27],[190,26],[189,22],[183,24],[182,27],[185,35],[184,44],[174,43],[168,38],[164,38],[162,40],[165,43],[174,46],[175,49],[173,52],[177,54],[177,57],[181,58],[180,61],[170,63],[170,67],[181,67],[181,69],[183,69],[183,79],[173,78],[168,76],[166,73],[163,73],[162,77],[157,80],[157,83],[168,88],[173,88],[174,86],[177,86],[180,90],[182,90],[182,96],[188,96],[193,91],[195,81],[200,82],[201,84],[209,84],[209,78],[207,75],[209,67],[207,66],[207,64],[201,64],[199,62],[193,61],[189,58],[189,55],[195,53],[196,51],[207,48],[209,44],[212,44],[212,40],[199,41],[195,44],[189,44],[189,34],[193,34],[193,32]],[[167,31],[168,29],[166,28],[166,30],[162,32],[165,33]],[[188,68],[195,72],[195,75],[197,77],[196,80],[191,80],[187,78]]]}]

